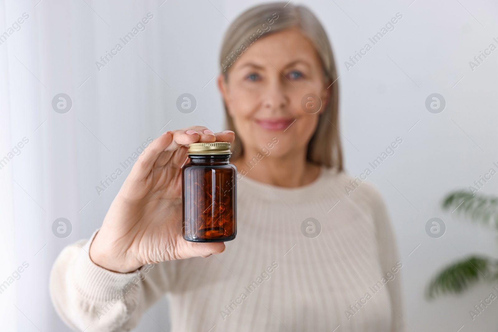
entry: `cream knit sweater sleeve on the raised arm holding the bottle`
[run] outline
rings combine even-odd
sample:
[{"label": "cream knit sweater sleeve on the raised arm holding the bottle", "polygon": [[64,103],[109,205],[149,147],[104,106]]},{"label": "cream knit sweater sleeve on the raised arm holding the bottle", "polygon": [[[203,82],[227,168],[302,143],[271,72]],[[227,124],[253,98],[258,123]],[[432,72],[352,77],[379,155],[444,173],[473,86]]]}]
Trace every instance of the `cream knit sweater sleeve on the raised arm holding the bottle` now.
[{"label": "cream knit sweater sleeve on the raised arm holding the bottle", "polygon": [[175,261],[116,273],[92,262],[89,240],[69,245],[50,274],[50,296],[62,320],[75,331],[130,331],[143,312],[171,287]]}]

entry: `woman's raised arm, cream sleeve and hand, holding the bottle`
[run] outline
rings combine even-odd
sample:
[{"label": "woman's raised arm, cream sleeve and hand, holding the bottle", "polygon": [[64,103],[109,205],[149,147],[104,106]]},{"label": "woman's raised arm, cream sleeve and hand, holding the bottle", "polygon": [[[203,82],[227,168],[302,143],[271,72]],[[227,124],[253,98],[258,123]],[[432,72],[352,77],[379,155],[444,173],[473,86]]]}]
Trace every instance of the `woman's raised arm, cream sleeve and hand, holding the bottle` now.
[{"label": "woman's raised arm, cream sleeve and hand, holding the bottle", "polygon": [[223,242],[183,239],[181,169],[186,144],[234,138],[232,131],[214,134],[194,126],[168,131],[147,146],[99,231],[89,241],[65,248],[53,266],[50,293],[69,326],[128,331],[170,289],[175,260],[225,249]]}]

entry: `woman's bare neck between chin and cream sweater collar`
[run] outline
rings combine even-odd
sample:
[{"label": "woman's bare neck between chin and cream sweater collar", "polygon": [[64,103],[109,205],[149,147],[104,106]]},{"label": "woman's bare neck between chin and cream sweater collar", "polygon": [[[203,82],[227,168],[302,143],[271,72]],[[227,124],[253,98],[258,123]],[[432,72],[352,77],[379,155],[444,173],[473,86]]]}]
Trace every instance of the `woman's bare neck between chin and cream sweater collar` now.
[{"label": "woman's bare neck between chin and cream sweater collar", "polygon": [[278,157],[272,154],[265,156],[256,150],[246,151],[232,162],[244,176],[279,187],[305,186],[315,181],[320,174],[320,166],[306,160],[306,150]]}]

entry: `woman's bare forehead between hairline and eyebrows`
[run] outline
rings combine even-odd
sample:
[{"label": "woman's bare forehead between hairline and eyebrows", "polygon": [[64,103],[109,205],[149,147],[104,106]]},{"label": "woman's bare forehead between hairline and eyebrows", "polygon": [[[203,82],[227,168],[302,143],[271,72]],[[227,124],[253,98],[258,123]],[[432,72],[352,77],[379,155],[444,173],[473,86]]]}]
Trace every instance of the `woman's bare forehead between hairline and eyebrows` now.
[{"label": "woman's bare forehead between hairline and eyebrows", "polygon": [[249,62],[278,67],[296,61],[305,62],[310,66],[320,66],[320,59],[311,40],[299,29],[290,28],[269,34],[249,45],[235,62],[234,69]]}]

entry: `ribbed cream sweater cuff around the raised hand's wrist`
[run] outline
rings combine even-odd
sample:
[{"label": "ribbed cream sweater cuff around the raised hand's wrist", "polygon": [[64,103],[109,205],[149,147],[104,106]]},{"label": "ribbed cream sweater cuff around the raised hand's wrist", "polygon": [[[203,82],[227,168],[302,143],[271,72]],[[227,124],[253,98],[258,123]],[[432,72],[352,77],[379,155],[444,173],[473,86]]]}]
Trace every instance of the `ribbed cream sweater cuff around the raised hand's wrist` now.
[{"label": "ribbed cream sweater cuff around the raised hand's wrist", "polygon": [[110,301],[121,296],[124,288],[133,278],[137,278],[139,270],[130,273],[109,271],[92,262],[90,259],[90,244],[99,230],[92,237],[77,256],[72,269],[75,286],[78,292],[91,301]]}]

